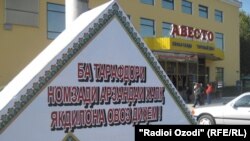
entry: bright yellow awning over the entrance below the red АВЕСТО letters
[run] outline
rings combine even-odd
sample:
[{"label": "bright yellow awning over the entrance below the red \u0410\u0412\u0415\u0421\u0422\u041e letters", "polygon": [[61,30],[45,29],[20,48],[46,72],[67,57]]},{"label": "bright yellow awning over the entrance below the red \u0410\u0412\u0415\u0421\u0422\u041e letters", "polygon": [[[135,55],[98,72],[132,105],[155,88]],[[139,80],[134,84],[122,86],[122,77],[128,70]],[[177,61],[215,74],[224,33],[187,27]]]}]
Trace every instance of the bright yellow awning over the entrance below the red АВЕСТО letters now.
[{"label": "bright yellow awning over the entrance below the red \u0410\u0412\u0415\u0421\u0422\u041e letters", "polygon": [[152,51],[197,55],[210,60],[223,60],[224,52],[214,43],[168,37],[144,38]]}]

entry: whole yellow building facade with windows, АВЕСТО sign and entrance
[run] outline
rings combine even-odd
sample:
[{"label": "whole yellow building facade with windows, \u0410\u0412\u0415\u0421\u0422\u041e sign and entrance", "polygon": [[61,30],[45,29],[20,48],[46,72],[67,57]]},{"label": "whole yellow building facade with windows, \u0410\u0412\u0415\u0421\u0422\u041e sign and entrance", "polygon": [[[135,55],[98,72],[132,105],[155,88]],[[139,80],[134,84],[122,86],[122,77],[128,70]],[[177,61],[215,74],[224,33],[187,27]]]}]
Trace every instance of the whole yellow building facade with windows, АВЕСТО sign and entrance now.
[{"label": "whole yellow building facade with windows, \u0410\u0412\u0415\u0421\u0422\u041e sign and entrance", "polygon": [[[107,1],[90,0],[88,8]],[[240,79],[238,0],[118,3],[177,89],[194,82],[234,86]],[[4,86],[65,29],[65,4],[0,0],[0,5],[4,13],[0,15],[0,86]]]}]

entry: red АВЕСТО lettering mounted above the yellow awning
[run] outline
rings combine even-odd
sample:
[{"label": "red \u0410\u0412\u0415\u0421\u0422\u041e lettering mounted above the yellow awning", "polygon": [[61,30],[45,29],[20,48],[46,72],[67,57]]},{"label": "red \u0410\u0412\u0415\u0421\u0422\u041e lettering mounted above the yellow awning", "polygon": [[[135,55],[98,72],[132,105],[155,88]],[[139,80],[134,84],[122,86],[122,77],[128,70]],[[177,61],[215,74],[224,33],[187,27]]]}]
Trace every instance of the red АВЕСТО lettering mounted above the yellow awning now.
[{"label": "red \u0410\u0412\u0415\u0421\u0422\u041e lettering mounted above the yellow awning", "polygon": [[185,25],[172,24],[172,31],[170,33],[172,36],[181,36],[191,39],[197,39],[202,41],[213,41],[214,34],[211,31],[198,29]]}]

